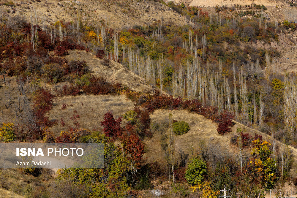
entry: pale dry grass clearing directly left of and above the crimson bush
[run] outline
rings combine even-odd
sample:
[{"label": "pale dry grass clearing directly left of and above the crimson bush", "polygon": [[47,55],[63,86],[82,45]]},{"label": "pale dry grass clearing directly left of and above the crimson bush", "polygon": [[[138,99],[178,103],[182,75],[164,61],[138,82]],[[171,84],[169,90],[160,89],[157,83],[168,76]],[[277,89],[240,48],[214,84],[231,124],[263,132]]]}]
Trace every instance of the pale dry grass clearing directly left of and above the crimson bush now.
[{"label": "pale dry grass clearing directly left of and above the crimson bush", "polygon": [[[56,105],[48,112],[50,120],[56,119],[58,124],[51,127],[54,134],[59,135],[61,131],[67,131],[68,126],[73,126],[70,118],[73,115],[79,115],[80,128],[93,130],[100,126],[103,121],[104,114],[108,110],[112,110],[115,117],[122,116],[125,112],[132,110],[134,104],[127,101],[124,95],[80,95],[80,96],[64,96],[58,97],[55,101]],[[62,104],[67,104],[66,109],[62,110]],[[61,118],[65,122],[65,126],[61,126]]]}]

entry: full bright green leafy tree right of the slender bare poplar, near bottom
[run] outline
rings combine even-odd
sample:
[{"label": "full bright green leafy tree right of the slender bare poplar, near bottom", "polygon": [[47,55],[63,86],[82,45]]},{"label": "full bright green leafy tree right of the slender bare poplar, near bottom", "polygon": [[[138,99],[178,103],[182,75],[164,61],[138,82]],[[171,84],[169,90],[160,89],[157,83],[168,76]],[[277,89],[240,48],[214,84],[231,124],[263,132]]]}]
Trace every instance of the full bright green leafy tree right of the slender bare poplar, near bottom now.
[{"label": "full bright green leafy tree right of the slender bare poplar, near bottom", "polygon": [[193,158],[188,164],[185,178],[191,186],[201,183],[207,175],[206,162],[202,159]]}]

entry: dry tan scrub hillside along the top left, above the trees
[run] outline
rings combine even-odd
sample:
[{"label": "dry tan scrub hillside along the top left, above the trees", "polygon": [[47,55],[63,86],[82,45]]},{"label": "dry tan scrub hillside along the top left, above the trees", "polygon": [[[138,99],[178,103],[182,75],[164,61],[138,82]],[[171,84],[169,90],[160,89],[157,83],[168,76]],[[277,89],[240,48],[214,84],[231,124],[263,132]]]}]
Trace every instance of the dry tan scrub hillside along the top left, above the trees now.
[{"label": "dry tan scrub hillside along the top left, above the trees", "polygon": [[[5,2],[5,1],[3,1]],[[30,20],[30,10],[36,10],[39,23],[45,19],[46,24],[55,23],[58,20],[72,21],[76,18],[76,10],[82,9],[82,20],[88,23],[99,23],[101,17],[114,29],[131,28],[135,25],[149,25],[161,16],[164,17],[164,22],[172,21],[175,24],[184,24],[185,18],[173,9],[167,6],[150,1],[137,0],[80,0],[80,1],[57,1],[57,0],[42,0],[40,3],[32,1],[29,4],[27,1],[13,1],[20,6],[16,6],[15,15],[20,14]],[[9,9],[12,12],[12,7],[1,6],[3,9]],[[0,8],[1,8],[0,7]],[[34,13],[33,13],[34,14]]]}]

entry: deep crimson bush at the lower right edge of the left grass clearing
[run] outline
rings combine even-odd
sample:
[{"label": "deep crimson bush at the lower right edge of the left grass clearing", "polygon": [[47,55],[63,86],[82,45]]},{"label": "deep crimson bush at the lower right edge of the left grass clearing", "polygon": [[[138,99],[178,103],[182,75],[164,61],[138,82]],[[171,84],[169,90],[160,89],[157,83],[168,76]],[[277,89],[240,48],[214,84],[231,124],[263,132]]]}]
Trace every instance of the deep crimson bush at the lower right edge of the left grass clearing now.
[{"label": "deep crimson bush at the lower right edge of the left grass clearing", "polygon": [[113,140],[121,136],[121,121],[122,117],[118,119],[113,118],[112,111],[108,111],[104,115],[104,121],[100,122],[103,126],[103,132],[106,136],[111,137]]}]

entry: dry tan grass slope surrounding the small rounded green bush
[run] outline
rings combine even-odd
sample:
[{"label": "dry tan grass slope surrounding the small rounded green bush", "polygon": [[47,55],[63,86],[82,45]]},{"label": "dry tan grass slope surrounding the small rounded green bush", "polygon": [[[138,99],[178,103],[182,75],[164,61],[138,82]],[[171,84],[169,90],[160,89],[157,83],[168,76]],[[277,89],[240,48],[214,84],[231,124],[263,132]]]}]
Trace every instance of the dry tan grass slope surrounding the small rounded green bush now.
[{"label": "dry tan grass slope surrounding the small rounded green bush", "polygon": [[[187,113],[186,110],[174,110],[171,111],[173,119],[177,121],[186,121],[189,123],[190,130],[183,135],[175,136],[175,151],[176,159],[179,155],[179,150],[184,150],[185,153],[194,154],[198,151],[198,145],[200,141],[206,143],[212,142],[214,144],[220,144],[224,148],[225,145],[229,145],[232,133],[225,136],[221,136],[217,133],[217,125],[204,118],[202,115]],[[157,110],[151,115],[151,122],[157,122],[159,124],[168,123],[168,110]],[[168,130],[166,134],[169,134]],[[214,140],[209,138],[213,137]],[[146,153],[144,158],[147,158],[148,162],[151,161],[164,161],[164,153],[161,151],[160,145],[161,134],[156,132],[154,136],[145,141]],[[230,150],[229,147],[225,147]]]}]

